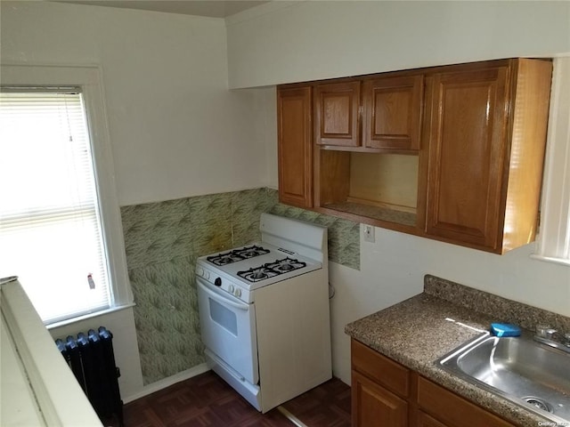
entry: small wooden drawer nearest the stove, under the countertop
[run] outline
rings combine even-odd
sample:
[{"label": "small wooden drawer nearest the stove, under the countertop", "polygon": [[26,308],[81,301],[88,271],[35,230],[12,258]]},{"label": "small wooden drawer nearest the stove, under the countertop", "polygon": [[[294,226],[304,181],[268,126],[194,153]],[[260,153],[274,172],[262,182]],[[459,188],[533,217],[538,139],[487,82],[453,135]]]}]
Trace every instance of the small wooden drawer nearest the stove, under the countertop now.
[{"label": "small wooden drawer nearest the stove, under the countertop", "polygon": [[410,371],[372,350],[364,344],[352,340],[353,369],[367,375],[387,390],[406,398],[410,394]]}]

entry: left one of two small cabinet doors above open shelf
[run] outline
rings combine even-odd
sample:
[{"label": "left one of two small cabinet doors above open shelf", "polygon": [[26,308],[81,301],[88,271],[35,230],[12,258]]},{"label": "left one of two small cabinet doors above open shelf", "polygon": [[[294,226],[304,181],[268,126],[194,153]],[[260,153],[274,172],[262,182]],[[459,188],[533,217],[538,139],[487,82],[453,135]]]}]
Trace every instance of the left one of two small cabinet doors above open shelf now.
[{"label": "left one of two small cabinet doors above open shelf", "polygon": [[357,147],[360,143],[360,81],[317,85],[314,90],[315,142]]}]

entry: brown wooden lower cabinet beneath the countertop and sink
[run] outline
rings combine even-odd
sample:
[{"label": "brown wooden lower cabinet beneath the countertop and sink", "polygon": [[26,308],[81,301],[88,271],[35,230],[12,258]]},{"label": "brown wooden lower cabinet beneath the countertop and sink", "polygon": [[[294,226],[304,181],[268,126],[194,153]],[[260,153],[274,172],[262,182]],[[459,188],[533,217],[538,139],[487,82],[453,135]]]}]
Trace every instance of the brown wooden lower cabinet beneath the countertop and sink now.
[{"label": "brown wooden lower cabinet beneath the countertop and sink", "polygon": [[352,340],[353,427],[516,427]]}]

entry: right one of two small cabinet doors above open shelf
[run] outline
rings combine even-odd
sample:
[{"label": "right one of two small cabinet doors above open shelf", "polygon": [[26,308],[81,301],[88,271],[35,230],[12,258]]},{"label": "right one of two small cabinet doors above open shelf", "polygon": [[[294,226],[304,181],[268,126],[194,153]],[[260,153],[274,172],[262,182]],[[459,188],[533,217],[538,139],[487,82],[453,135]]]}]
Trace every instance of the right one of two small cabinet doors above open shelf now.
[{"label": "right one of two small cabinet doors above open shelf", "polygon": [[362,85],[364,146],[419,149],[424,77],[383,77]]}]

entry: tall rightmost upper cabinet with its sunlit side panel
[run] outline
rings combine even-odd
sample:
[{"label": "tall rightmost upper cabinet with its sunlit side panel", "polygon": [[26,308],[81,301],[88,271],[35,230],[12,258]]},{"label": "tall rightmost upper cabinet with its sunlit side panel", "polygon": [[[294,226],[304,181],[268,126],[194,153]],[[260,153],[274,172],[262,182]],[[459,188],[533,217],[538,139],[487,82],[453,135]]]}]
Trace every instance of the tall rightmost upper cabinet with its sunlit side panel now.
[{"label": "tall rightmost upper cabinet with its sunlit side panel", "polygon": [[521,59],[427,77],[429,236],[500,254],[533,241],[551,71]]}]

